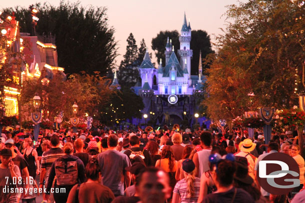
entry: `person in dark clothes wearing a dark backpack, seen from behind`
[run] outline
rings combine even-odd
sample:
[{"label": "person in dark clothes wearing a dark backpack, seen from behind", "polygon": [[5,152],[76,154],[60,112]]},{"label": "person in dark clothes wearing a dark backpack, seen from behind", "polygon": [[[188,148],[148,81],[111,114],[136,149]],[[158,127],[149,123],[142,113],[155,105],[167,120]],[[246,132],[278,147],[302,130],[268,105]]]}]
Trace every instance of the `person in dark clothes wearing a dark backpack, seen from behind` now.
[{"label": "person in dark clothes wearing a dark backpack, seen from behind", "polygon": [[[54,191],[55,189],[59,189],[59,193],[54,192],[54,201],[56,203],[66,203],[67,194],[69,194],[72,187],[78,183],[83,183],[85,181],[84,175],[84,166],[82,161],[73,156],[73,144],[67,142],[63,146],[63,152],[65,155],[58,158],[51,167],[48,179],[47,179],[47,187],[45,199],[48,199],[49,192],[52,187],[53,180],[56,176],[56,180],[54,183]],[[65,189],[64,193],[60,193]]]}]

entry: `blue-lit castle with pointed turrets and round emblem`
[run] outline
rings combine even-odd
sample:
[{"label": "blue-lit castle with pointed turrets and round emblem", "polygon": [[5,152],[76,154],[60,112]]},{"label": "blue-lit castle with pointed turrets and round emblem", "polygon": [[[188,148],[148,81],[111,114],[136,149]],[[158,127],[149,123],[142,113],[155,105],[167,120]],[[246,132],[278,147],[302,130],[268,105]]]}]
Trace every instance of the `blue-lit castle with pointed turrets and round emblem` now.
[{"label": "blue-lit castle with pointed turrets and round emblem", "polygon": [[[147,120],[154,124],[181,124],[190,125],[195,121],[196,99],[202,93],[201,53],[199,56],[198,75],[190,75],[191,28],[186,22],[184,13],[183,25],[179,36],[180,49],[178,58],[174,53],[171,40],[167,38],[165,45],[165,64],[160,60],[158,68],[151,63],[146,50],[143,61],[139,66],[141,82],[133,87],[136,94],[142,97],[147,114]],[[140,86],[141,85],[141,86]],[[197,95],[197,96],[196,96]],[[134,123],[134,122],[132,122]]]}]

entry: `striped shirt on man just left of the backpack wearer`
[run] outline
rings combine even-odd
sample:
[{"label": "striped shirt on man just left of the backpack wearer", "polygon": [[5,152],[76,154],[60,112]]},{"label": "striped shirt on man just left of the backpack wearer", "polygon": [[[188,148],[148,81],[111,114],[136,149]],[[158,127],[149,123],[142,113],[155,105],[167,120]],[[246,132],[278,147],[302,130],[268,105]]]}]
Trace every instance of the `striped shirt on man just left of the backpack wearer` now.
[{"label": "striped shirt on man just left of the backpack wearer", "polygon": [[40,168],[46,170],[45,180],[47,180],[53,162],[55,162],[56,159],[60,158],[63,155],[64,153],[60,148],[51,148],[49,151],[44,152],[42,154]]}]

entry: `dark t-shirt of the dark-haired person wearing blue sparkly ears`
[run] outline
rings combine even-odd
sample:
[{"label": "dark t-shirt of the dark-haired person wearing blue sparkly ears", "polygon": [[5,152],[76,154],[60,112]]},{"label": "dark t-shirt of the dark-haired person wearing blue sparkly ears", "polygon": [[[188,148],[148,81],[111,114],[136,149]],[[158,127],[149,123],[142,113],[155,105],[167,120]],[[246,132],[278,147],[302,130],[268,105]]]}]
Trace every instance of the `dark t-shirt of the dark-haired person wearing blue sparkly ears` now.
[{"label": "dark t-shirt of the dark-haired person wearing blue sparkly ears", "polygon": [[236,195],[233,203],[254,203],[253,198],[244,190],[240,188],[232,188],[224,193],[208,194],[202,201],[202,203],[232,203],[234,191]]}]

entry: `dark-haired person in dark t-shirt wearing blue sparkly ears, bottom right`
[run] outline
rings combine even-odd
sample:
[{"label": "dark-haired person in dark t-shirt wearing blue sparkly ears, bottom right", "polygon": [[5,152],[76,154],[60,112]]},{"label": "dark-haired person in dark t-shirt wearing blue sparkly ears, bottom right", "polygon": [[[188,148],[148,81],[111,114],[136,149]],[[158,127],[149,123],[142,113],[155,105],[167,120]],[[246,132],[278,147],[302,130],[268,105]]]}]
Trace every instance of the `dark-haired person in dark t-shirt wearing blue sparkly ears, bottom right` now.
[{"label": "dark-haired person in dark t-shirt wearing blue sparkly ears, bottom right", "polygon": [[247,192],[233,186],[235,171],[235,163],[226,159],[211,164],[211,176],[217,191],[208,194],[202,203],[254,203]]}]

